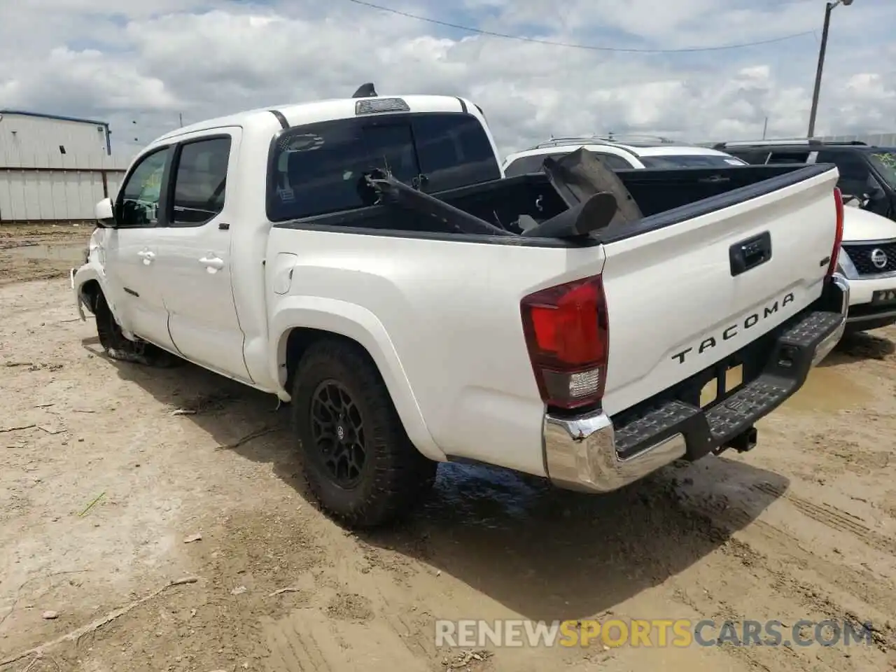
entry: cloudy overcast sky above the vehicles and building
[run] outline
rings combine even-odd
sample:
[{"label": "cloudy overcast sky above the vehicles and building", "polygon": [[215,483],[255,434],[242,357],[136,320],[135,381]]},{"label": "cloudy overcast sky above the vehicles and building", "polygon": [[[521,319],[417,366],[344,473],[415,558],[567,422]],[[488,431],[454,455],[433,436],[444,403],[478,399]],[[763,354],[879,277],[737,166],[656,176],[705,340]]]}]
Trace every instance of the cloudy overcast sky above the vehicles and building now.
[{"label": "cloudy overcast sky above the vehicles and building", "polygon": [[[502,151],[550,134],[691,141],[806,134],[824,0],[375,0],[531,38],[472,35],[349,0],[0,0],[0,108],[107,120],[133,154],[184,122],[381,94],[477,102]],[[817,134],[896,132],[896,0],[834,10]],[[135,124],[132,122],[136,122]]]}]

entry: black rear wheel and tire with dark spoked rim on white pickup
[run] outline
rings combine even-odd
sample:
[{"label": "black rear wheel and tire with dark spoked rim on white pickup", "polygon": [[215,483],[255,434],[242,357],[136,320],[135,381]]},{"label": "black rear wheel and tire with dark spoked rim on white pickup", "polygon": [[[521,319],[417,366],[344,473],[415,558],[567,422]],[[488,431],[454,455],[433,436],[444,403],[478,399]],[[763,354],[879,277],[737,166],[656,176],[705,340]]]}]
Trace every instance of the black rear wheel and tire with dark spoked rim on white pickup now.
[{"label": "black rear wheel and tire with dark spoked rim on white pickup", "polygon": [[298,363],[291,410],[308,487],[349,527],[397,521],[432,487],[437,464],[410,442],[379,371],[357,345],[314,343]]}]

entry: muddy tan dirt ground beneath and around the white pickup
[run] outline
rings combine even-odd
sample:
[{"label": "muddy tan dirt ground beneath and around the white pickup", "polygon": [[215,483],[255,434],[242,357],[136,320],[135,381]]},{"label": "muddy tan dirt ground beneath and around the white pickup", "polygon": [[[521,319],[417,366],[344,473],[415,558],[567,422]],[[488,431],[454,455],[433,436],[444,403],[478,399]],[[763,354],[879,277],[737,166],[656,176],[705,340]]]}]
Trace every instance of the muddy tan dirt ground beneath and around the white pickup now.
[{"label": "muddy tan dirt ground beneath and around the white pickup", "polygon": [[[0,230],[65,248],[0,250],[2,672],[896,668],[896,330],[841,343],[753,452],[607,496],[444,465],[407,524],[356,535],[306,494],[274,400],[102,357],[54,277],[87,234]],[[846,619],[874,643],[434,643],[436,618],[592,616]]]}]

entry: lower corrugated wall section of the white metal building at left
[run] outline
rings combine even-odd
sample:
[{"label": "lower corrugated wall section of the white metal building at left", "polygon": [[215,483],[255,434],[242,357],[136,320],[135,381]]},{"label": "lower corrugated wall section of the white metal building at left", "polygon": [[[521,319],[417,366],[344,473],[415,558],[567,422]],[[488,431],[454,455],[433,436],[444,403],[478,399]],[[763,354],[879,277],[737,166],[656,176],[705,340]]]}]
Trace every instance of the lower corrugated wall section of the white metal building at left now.
[{"label": "lower corrugated wall section of the white metal building at left", "polygon": [[92,221],[96,203],[118,193],[126,166],[105,152],[0,151],[0,225]]}]

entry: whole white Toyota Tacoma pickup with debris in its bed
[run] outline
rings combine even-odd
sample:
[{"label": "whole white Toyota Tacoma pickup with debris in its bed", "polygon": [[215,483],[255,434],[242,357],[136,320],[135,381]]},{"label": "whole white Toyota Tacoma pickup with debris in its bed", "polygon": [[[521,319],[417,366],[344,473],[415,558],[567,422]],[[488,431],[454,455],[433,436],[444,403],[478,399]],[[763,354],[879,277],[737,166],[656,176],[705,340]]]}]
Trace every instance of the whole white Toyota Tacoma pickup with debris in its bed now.
[{"label": "whole white Toyota Tacoma pickup with debris in its bed", "polygon": [[843,330],[836,168],[551,161],[505,178],[443,96],[187,126],[99,202],[73,292],[111,357],[289,402],[349,525],[407,513],[440,461],[606,492],[753,448]]}]

